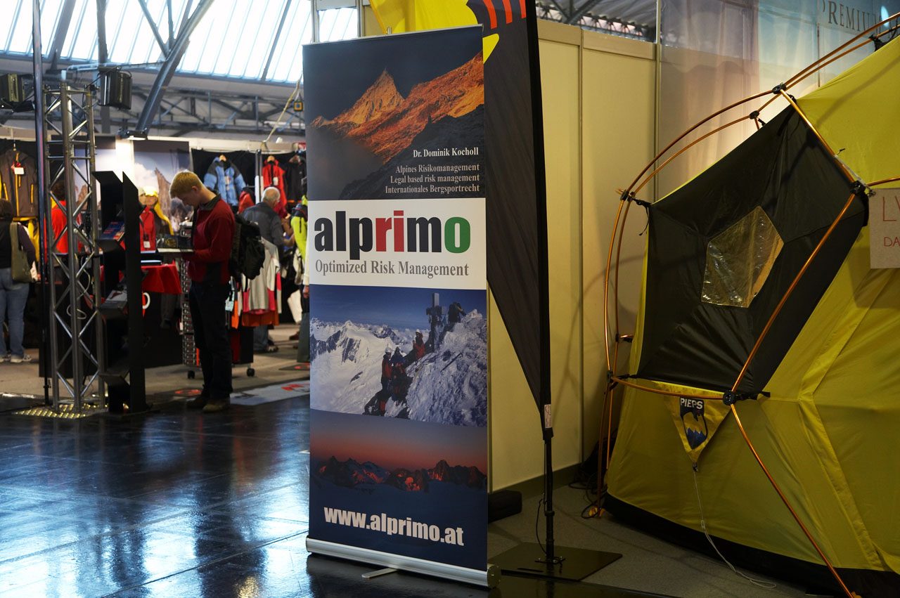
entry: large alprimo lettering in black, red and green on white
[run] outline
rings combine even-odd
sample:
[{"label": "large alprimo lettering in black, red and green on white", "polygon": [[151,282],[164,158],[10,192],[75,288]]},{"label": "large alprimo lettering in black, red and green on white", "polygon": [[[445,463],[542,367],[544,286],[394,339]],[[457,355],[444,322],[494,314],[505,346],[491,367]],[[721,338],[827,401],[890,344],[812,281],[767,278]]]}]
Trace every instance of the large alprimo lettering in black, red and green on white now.
[{"label": "large alprimo lettering in black, red and green on white", "polygon": [[316,219],[312,230],[316,251],[348,251],[351,260],[373,251],[463,254],[472,245],[472,226],[467,219],[412,218],[403,210],[393,210],[392,217],[374,219],[347,218],[347,211],[338,210],[334,219]]}]

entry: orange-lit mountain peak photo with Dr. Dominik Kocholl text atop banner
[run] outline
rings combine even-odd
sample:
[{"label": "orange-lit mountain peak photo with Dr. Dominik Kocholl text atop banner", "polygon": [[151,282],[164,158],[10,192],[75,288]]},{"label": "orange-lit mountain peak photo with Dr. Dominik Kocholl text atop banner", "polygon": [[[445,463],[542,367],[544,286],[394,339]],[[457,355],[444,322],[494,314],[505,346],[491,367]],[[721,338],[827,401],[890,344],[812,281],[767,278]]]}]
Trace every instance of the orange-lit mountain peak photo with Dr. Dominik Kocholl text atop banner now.
[{"label": "orange-lit mountain peak photo with Dr. Dominik Kocholl text atop banner", "polygon": [[[437,31],[357,40],[304,50],[307,138],[316,147],[309,168],[310,199],[484,197],[484,66],[477,45],[433,40]],[[472,48],[476,51],[472,51]],[[411,64],[408,52],[426,57]],[[339,82],[335,71],[347,73]]]}]

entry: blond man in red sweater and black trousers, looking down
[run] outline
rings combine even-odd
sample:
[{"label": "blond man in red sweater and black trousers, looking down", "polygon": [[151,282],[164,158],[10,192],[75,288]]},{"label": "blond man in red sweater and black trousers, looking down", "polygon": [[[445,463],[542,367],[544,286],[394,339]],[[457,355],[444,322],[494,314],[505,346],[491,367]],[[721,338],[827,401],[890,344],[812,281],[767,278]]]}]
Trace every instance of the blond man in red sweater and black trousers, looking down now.
[{"label": "blond man in red sweater and black trousers, looking down", "polygon": [[193,343],[200,351],[203,389],[189,404],[215,413],[229,407],[231,347],[225,301],[231,291],[229,257],[234,237],[234,215],[225,201],[203,186],[191,172],[175,174],[172,197],[193,208],[193,253],[183,254],[191,278]]}]

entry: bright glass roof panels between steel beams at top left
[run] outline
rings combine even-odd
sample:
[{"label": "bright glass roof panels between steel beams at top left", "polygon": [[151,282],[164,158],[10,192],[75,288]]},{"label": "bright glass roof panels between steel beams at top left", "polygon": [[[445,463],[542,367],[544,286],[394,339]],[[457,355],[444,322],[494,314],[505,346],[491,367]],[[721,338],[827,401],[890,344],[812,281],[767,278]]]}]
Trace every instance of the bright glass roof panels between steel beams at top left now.
[{"label": "bright glass roof panels between steel beams at top left", "polygon": [[[168,41],[168,0],[146,0],[164,42]],[[184,7],[198,0],[171,0],[177,33]],[[40,26],[45,56],[56,36],[66,0],[41,0]],[[285,13],[285,6],[287,7]],[[0,22],[0,54],[31,53],[31,0],[10,0],[8,18]],[[284,14],[284,27],[275,32]],[[356,37],[356,9],[321,11],[323,41]],[[106,44],[114,64],[157,63],[164,58],[139,0],[107,0]],[[7,29],[8,27],[8,29]],[[180,72],[268,81],[296,81],[302,76],[302,44],[312,41],[311,0],[216,0],[193,31]],[[96,0],[74,0],[60,58],[92,62],[98,58]]]}]

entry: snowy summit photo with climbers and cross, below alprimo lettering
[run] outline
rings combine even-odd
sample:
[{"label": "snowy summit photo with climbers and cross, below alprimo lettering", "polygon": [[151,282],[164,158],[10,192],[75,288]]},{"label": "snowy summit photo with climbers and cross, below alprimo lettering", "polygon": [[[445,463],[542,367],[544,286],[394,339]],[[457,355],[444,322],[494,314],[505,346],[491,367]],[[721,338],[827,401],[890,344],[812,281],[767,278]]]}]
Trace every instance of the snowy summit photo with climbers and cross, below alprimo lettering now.
[{"label": "snowy summit photo with climbers and cross, below alprimo lettering", "polygon": [[316,285],[313,409],[488,422],[484,290]]}]

